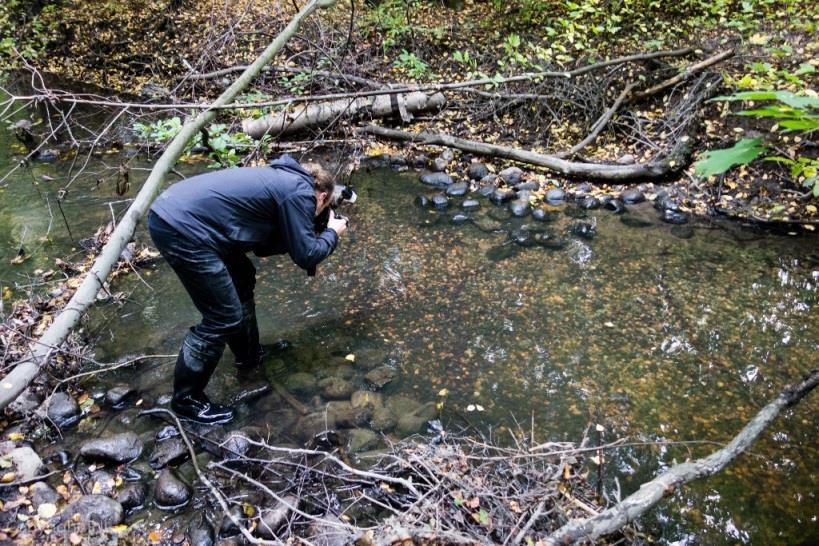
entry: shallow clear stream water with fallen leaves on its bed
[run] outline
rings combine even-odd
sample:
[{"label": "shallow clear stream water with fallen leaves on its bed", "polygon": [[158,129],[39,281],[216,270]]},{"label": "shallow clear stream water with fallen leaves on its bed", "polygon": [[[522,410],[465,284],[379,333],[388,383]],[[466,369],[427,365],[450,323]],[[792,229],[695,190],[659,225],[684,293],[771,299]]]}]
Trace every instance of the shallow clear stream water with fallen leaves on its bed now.
[{"label": "shallow clear stream water with fallen leaves on its bed", "polygon": [[[20,157],[13,137],[0,131],[0,172]],[[72,256],[77,239],[91,235],[112,211],[124,211],[110,168],[118,161],[91,161],[62,204],[65,221],[55,195],[66,184],[70,161],[34,163],[0,185],[2,286],[19,296],[34,270]],[[191,174],[206,167],[181,168]],[[146,175],[132,171],[133,186]],[[591,211],[598,231],[593,240],[569,237],[562,250],[518,249],[504,228],[531,224],[531,218],[493,219],[502,217],[482,201],[475,216],[483,229],[456,226],[448,221],[451,211],[414,206],[414,198],[428,192],[417,174],[362,171],[353,182],[360,199],[347,211],[349,235],[316,278],[286,257],[259,261],[262,338],[293,343],[282,356],[291,369],[320,373],[347,354],[356,355],[355,367],[386,364],[397,371],[386,395],[443,401],[442,421],[453,430],[468,421],[501,437],[504,427],[519,430],[521,423],[534,432],[534,442],[579,441],[592,423],[605,427],[603,437],[593,432],[595,442],[719,443],[819,363],[816,237],[712,225],[683,239],[653,209],[637,207],[628,215],[652,225],[629,227],[610,212]],[[571,221],[560,213],[548,227],[563,233]],[[142,228],[137,238],[148,241]],[[21,244],[28,259],[11,265]],[[175,353],[197,320],[164,263],[141,277],[115,284],[127,294],[124,305],[92,310],[85,331],[98,340],[98,360]],[[7,311],[9,302],[4,305]],[[239,389],[230,360],[226,355],[211,383],[214,398]],[[148,361],[86,387],[129,383],[148,404],[168,394],[172,365]],[[309,404],[313,396],[299,398]],[[484,411],[470,412],[469,405]],[[286,406],[276,397],[239,409],[233,426],[267,426],[273,441],[293,441]],[[676,492],[646,518],[646,528],[665,544],[819,543],[817,409],[814,393],[784,412],[751,453]],[[156,427],[135,412],[103,411],[67,431],[65,442],[76,446],[99,434]],[[715,447],[611,451],[606,488],[612,490],[616,477],[625,495],[675,460]]]}]

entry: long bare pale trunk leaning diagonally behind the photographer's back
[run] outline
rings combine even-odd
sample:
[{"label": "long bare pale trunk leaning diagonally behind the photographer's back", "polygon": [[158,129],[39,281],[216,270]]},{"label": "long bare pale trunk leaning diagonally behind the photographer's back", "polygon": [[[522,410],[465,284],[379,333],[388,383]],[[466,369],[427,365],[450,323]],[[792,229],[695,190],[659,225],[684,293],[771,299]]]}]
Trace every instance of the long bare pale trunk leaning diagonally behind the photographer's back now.
[{"label": "long bare pale trunk leaning diagonally behind the photographer's back", "polygon": [[[301,22],[315,10],[327,8],[335,4],[336,0],[310,0],[293,20],[282,30],[256,61],[222,93],[215,101],[215,105],[227,104],[232,101],[255,78],[262,68],[284,47],[290,37],[296,33]],[[54,322],[43,336],[31,344],[31,355],[18,362],[14,369],[0,382],[0,409],[8,406],[23,392],[31,381],[37,377],[43,366],[54,351],[66,340],[71,330],[80,320],[83,313],[94,303],[97,292],[117,263],[122,249],[131,240],[137,222],[145,214],[153,201],[160,184],[165,176],[173,169],[177,159],[185,151],[188,141],[193,138],[216,115],[216,110],[205,110],[194,119],[185,123],[176,137],[168,144],[165,152],[157,160],[151,174],[140,189],[134,202],[126,211],[117,228],[111,234],[108,243],[103,247],[94,265],[88,271],[82,284],[66,304]]]}]

